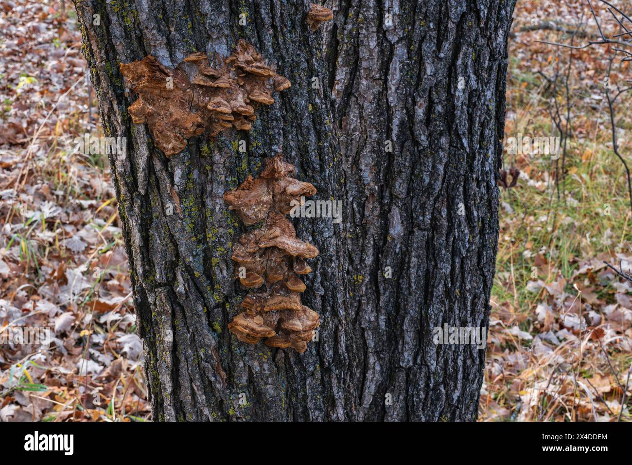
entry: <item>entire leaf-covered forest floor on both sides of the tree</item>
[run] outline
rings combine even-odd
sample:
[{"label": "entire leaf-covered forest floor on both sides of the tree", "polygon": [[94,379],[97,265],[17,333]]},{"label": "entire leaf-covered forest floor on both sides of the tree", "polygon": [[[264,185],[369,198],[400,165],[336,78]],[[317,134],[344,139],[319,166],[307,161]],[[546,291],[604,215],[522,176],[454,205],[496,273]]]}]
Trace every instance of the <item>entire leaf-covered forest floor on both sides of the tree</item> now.
[{"label": "entire leaf-covered forest floor on both sides of the tree", "polygon": [[[0,6],[0,421],[146,420],[109,167],[75,151],[75,137],[102,129],[67,4],[65,15],[59,3]],[[516,6],[506,137],[557,137],[558,114],[569,129],[563,177],[562,157],[505,156],[520,177],[501,189],[482,421],[631,419],[622,404],[632,395],[632,285],[604,263],[632,266],[626,172],[604,89],[614,51],[575,50],[567,74],[570,50],[537,42],[585,43],[598,32],[587,8]],[[607,11],[597,14],[614,31]],[[585,33],[571,39],[582,15]],[[549,22],[566,32],[542,28]],[[611,96],[632,78],[628,65],[612,61]],[[619,152],[632,163],[631,99],[623,92],[614,111]],[[16,344],[16,326],[51,328],[49,348]]]}]

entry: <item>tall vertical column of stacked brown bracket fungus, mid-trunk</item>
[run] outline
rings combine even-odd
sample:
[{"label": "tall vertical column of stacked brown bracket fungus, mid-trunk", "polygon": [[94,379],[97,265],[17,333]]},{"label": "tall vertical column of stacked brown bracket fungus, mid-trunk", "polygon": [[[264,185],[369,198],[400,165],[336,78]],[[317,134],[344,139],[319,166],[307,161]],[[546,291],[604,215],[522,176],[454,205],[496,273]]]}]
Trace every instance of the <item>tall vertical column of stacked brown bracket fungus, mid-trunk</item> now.
[{"label": "tall vertical column of stacked brown bracket fungus, mid-trunk", "polygon": [[248,177],[236,189],[224,192],[229,209],[236,210],[246,225],[261,223],[233,247],[235,278],[256,291],[244,297],[244,311],[228,328],[242,342],[256,344],[266,338],[270,347],[293,347],[303,353],[320,319],[301,303],[305,283],[298,275],[312,271],[305,259],[316,257],[318,249],[296,238],[284,214],[291,210],[291,202],[314,195],[316,189],[289,177],[294,172],[294,166],[278,154],[265,159],[260,177]]}]

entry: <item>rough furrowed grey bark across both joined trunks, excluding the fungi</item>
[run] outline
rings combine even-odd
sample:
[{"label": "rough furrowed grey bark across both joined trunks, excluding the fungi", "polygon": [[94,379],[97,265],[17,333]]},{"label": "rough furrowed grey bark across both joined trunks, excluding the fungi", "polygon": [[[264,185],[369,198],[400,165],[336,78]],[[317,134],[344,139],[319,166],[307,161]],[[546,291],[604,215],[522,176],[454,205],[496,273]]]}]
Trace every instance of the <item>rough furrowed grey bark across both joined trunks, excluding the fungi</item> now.
[{"label": "rough furrowed grey bark across both joined trunks, excluding the fungi", "polygon": [[[106,135],[128,137],[110,161],[154,419],[476,418],[484,350],[432,330],[488,325],[514,1],[340,1],[324,34],[303,0],[75,6]],[[250,132],[166,158],[131,123],[119,63],[227,56],[242,37],[292,87]],[[320,250],[302,300],[322,324],[302,355],[227,329],[246,294],[230,259],[243,226],[221,196],[279,151],[315,198],[345,199],[341,225],[295,220]]]}]

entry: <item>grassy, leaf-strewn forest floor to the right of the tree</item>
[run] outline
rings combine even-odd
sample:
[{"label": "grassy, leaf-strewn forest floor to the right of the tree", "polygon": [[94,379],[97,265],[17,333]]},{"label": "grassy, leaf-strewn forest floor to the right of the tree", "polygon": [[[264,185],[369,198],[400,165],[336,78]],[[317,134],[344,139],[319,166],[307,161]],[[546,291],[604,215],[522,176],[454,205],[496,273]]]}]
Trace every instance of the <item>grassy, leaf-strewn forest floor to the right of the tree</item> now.
[{"label": "grassy, leaf-strewn forest floor to the right of the tree", "polygon": [[[604,33],[620,32],[603,5],[592,4]],[[571,59],[571,49],[537,42],[599,40],[584,0],[519,0],[514,17],[506,137],[567,133],[568,139],[557,160],[525,150],[505,155],[504,168],[518,168],[520,177],[501,189],[480,419],[629,421],[622,404],[632,394],[632,287],[604,262],[630,273],[631,209],[604,84],[614,99],[629,87],[631,68],[618,54],[608,74],[616,54],[609,46],[572,50]],[[566,31],[542,28],[551,22]],[[574,35],[581,23],[585,34]],[[619,152],[628,163],[631,99],[632,92],[623,92],[613,106]]]}]

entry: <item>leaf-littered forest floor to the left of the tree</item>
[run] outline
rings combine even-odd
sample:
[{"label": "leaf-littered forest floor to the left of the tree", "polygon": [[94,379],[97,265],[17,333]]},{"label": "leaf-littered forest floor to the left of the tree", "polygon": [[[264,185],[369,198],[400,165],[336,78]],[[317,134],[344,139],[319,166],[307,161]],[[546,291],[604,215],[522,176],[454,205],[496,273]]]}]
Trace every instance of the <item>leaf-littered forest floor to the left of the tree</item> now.
[{"label": "leaf-littered forest floor to the left of the tree", "polygon": [[0,6],[0,421],[149,419],[107,159],[75,151],[102,129],[66,5]]}]

